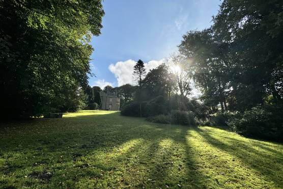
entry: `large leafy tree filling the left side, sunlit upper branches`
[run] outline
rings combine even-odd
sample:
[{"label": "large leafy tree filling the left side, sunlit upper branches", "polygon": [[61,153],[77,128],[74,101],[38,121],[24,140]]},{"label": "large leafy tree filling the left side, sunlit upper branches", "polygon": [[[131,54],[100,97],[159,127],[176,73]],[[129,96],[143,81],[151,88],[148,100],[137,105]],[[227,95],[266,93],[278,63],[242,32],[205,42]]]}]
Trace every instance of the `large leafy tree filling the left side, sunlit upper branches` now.
[{"label": "large leafy tree filling the left side, sunlit upper branches", "polygon": [[79,98],[103,15],[100,0],[1,1],[2,116],[60,111]]}]

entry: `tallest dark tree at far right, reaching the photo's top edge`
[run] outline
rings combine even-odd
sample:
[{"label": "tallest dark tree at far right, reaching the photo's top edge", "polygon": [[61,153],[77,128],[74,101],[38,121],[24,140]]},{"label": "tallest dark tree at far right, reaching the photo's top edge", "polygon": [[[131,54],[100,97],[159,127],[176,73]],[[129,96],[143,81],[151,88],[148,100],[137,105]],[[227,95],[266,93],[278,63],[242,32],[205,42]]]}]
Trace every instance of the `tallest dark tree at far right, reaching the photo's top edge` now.
[{"label": "tallest dark tree at far right, reaching the photo's top edge", "polygon": [[[244,111],[283,98],[282,1],[223,1],[213,31],[229,44],[231,104]],[[233,79],[233,80],[232,80]]]}]

